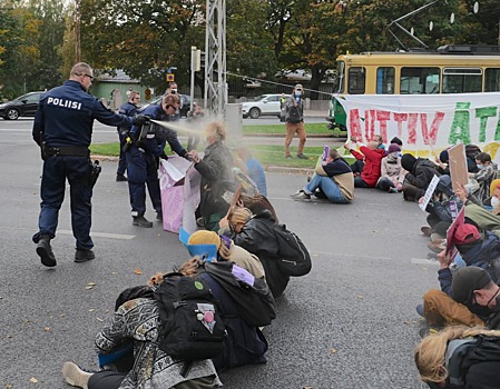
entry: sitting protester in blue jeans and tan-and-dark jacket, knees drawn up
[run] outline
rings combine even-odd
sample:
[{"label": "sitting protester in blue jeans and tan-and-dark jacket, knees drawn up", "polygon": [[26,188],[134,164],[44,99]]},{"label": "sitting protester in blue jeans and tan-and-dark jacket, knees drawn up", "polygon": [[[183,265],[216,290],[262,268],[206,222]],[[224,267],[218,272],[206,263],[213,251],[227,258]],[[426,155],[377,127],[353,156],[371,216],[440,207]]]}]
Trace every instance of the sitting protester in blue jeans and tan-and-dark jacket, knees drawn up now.
[{"label": "sitting protester in blue jeans and tan-and-dark jacket, knees drawn up", "polygon": [[317,164],[311,181],[292,197],[297,200],[311,200],[312,194],[326,197],[335,203],[349,203],[354,200],[354,176],[336,149],[330,149],[326,160]]}]

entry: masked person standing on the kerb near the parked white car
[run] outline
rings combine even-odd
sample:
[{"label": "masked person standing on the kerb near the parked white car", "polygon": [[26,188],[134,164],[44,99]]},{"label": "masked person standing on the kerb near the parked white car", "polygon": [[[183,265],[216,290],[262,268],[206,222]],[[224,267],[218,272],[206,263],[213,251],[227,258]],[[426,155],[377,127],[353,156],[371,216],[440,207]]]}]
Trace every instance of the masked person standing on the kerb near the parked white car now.
[{"label": "masked person standing on the kerb near the parked white car", "polygon": [[305,128],[304,128],[304,106],[302,100],[302,93],[304,89],[302,84],[297,83],[293,90],[292,96],[286,100],[285,103],[285,157],[292,158],[290,154],[290,144],[292,143],[295,132],[298,134],[298,150],[297,158],[307,159],[304,156],[304,144],[305,144]]}]

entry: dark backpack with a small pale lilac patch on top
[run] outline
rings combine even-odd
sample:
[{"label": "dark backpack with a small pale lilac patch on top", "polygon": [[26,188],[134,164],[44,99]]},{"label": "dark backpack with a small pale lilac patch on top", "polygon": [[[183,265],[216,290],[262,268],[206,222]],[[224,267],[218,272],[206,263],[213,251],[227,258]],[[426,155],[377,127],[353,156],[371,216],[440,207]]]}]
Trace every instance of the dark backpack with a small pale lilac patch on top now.
[{"label": "dark backpack with a small pale lilac patch on top", "polygon": [[248,326],[268,326],[276,318],[274,298],[264,280],[231,261],[205,262],[205,271],[229,293]]}]

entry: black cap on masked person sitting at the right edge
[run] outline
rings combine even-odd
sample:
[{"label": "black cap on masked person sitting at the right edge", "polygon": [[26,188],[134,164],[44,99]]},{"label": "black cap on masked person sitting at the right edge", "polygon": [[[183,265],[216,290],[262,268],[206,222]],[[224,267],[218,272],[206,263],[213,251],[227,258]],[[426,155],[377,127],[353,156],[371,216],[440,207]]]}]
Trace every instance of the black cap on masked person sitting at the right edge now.
[{"label": "black cap on masked person sitting at the right edge", "polygon": [[457,270],[451,282],[453,300],[463,305],[472,302],[474,290],[484,288],[491,282],[491,277],[484,269],[467,266]]}]

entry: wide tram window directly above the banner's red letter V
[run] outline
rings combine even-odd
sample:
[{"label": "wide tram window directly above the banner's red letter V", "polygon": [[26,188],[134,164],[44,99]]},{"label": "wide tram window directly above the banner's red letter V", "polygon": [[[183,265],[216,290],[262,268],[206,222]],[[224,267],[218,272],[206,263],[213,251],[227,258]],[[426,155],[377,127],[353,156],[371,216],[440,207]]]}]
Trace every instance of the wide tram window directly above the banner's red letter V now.
[{"label": "wide tram window directly above the banner's red letter V", "polygon": [[401,68],[401,94],[439,93],[439,68]]}]

